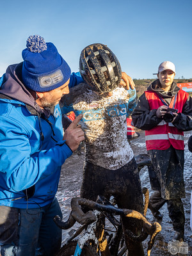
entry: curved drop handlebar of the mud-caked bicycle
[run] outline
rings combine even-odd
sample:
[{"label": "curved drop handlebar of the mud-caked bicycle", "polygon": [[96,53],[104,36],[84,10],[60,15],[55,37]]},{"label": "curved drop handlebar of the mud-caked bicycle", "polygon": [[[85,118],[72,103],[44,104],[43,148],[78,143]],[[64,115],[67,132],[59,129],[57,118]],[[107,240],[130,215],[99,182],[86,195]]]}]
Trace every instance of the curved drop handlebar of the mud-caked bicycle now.
[{"label": "curved drop handlebar of the mud-caked bicycle", "polygon": [[88,200],[86,198],[72,198],[71,200],[72,211],[70,212],[70,216],[68,220],[62,221],[60,216],[55,216],[54,222],[56,223],[56,225],[58,225],[58,227],[62,229],[68,229],[72,227],[72,225],[74,225],[74,223],[77,221],[85,227],[86,225],[89,225],[93,221],[97,220],[93,211],[88,211],[84,213],[80,206],[85,206],[92,210],[95,209],[100,212],[108,212],[109,214],[116,214],[120,216],[126,216],[128,218],[136,218],[138,220],[142,220],[143,231],[141,235],[137,237],[130,230],[127,231],[127,235],[133,241],[144,241],[147,238],[147,236],[150,235],[150,241],[148,242],[148,249],[147,249],[147,253],[148,255],[150,255],[150,250],[152,249],[152,246],[154,244],[155,237],[161,231],[161,225],[158,222],[151,224],[145,218],[145,216],[143,216],[143,214],[141,214],[138,211],[116,208],[111,204],[106,204],[106,202],[104,202],[104,204],[100,204],[99,202]]}]

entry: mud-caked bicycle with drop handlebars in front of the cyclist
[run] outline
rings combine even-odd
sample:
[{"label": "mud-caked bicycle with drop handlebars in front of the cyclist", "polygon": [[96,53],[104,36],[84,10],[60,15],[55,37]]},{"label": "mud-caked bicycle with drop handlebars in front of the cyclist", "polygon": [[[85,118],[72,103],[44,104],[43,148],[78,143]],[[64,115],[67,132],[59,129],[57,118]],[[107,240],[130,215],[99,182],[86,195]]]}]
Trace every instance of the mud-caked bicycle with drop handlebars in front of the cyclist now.
[{"label": "mud-caked bicycle with drop handlebars in front of the cyclist", "polygon": [[[140,154],[136,157],[139,170],[145,165],[150,164],[150,159],[146,154]],[[126,216],[127,218],[136,218],[143,221],[143,230],[140,236],[134,235],[131,230],[126,230],[126,235],[132,241],[144,241],[150,236],[148,241],[147,255],[150,255],[150,250],[154,244],[154,240],[158,232],[161,231],[161,225],[155,222],[153,224],[145,218],[148,207],[148,189],[143,188],[145,195],[144,214],[140,212],[120,209],[115,206],[115,200],[112,198],[110,202],[99,196],[97,202],[87,200],[85,198],[72,198],[72,211],[67,221],[62,221],[59,216],[54,218],[58,227],[68,229],[74,223],[81,223],[74,234],[67,240],[60,252],[56,256],[123,256],[127,252],[127,247],[124,243],[124,235],[122,231],[122,224],[119,216]],[[91,211],[84,213],[81,207],[86,207]],[[106,228],[104,225],[104,218],[106,218],[113,229]],[[80,236],[79,236],[80,235]],[[76,238],[77,237],[77,238]]]}]

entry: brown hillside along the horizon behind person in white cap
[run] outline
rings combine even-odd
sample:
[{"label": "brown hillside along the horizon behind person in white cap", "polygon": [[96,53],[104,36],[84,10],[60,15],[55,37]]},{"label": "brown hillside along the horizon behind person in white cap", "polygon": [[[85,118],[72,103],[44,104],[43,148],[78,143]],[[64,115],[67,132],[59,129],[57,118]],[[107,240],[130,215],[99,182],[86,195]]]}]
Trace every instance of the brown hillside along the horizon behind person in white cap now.
[{"label": "brown hillside along the horizon behind person in white cap", "polygon": [[[143,94],[147,87],[154,81],[155,79],[133,79],[134,84],[136,86],[136,92],[138,97]],[[175,83],[191,83],[192,79],[174,79]],[[192,96],[192,93],[189,93]]]}]

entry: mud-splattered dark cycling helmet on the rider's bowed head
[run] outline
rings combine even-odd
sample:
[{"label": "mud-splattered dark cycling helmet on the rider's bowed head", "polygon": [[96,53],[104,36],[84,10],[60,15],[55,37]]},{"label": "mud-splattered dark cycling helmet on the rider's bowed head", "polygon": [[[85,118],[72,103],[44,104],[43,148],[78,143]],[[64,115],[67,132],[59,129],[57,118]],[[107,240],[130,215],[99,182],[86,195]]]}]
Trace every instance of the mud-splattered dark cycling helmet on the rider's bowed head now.
[{"label": "mud-splattered dark cycling helmet on the rider's bowed head", "polygon": [[104,44],[91,44],[81,51],[79,71],[84,81],[100,93],[113,91],[122,78],[118,59]]}]

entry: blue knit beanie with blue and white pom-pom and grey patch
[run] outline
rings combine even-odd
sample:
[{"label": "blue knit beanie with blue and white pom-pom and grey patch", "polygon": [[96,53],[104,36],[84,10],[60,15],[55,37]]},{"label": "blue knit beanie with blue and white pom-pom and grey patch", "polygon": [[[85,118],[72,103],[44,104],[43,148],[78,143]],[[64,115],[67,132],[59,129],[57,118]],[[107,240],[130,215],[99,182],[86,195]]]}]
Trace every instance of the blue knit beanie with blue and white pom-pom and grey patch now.
[{"label": "blue knit beanie with blue and white pom-pom and grey patch", "polygon": [[52,43],[42,36],[29,36],[27,48],[22,51],[22,81],[35,92],[48,92],[65,84],[70,67]]}]

